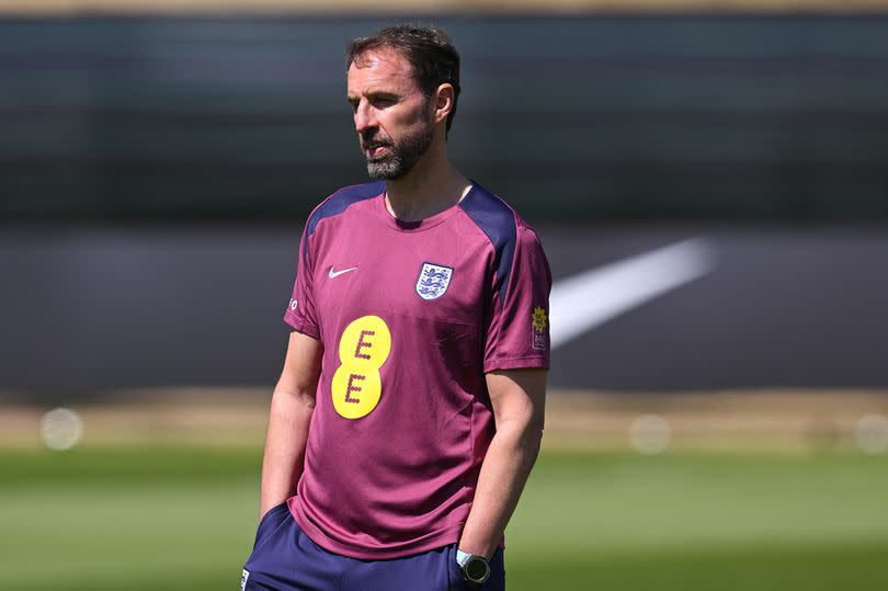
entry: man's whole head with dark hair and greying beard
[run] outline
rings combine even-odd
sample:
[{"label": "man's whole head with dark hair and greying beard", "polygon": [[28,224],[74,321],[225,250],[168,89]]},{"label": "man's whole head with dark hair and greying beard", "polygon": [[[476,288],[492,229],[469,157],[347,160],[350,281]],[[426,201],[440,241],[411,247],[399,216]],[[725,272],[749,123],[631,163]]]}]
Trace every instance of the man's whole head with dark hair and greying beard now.
[{"label": "man's whole head with dark hair and greying beard", "polygon": [[407,174],[435,134],[446,137],[459,95],[459,54],[431,25],[396,25],[352,41],[349,102],[374,179]]}]

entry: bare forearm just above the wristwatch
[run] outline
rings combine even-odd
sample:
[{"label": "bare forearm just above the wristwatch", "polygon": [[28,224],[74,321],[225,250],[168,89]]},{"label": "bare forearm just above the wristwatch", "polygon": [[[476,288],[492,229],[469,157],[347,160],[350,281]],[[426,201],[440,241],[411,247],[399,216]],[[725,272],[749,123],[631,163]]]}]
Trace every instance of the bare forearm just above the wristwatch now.
[{"label": "bare forearm just above the wristwatch", "polygon": [[508,421],[490,443],[459,549],[490,558],[517,505],[543,436],[542,425]]}]

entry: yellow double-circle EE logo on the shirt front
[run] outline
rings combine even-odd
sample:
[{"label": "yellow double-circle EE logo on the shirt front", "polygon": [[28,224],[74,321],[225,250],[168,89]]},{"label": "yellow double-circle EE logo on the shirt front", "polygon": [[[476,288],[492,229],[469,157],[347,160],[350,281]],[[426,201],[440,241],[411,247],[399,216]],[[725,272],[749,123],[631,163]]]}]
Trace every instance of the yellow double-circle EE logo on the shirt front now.
[{"label": "yellow double-circle EE logo on the shirt front", "polygon": [[352,321],[339,340],[341,365],[330,391],[333,407],[346,419],[360,419],[376,408],[383,394],[379,368],[391,352],[391,332],[378,316]]}]

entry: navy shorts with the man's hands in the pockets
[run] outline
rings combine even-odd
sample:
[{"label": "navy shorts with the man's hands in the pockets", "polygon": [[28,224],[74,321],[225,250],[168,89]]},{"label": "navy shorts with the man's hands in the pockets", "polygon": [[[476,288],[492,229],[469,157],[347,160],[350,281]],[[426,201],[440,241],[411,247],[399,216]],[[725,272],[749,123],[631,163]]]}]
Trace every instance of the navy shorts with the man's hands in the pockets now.
[{"label": "navy shorts with the man's hands in the pockets", "polygon": [[389,560],[332,554],[299,529],[286,503],[259,522],[253,552],[243,565],[243,591],[504,591],[502,548],[490,561],[490,579],[473,588],[456,564],[456,544]]}]

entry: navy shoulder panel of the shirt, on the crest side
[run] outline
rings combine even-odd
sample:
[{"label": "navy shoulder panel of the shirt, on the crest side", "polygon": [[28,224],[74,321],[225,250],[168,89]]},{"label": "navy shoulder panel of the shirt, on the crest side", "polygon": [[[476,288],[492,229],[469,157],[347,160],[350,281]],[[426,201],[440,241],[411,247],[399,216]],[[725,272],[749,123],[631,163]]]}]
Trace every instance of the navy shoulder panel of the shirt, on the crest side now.
[{"label": "navy shoulder panel of the shirt, on the crest side", "polygon": [[512,274],[512,260],[515,257],[517,240],[515,213],[504,201],[475,182],[468,195],[459,202],[459,207],[481,228],[493,245],[497,252],[497,287],[502,303],[505,300]]}]

